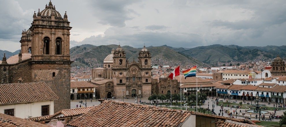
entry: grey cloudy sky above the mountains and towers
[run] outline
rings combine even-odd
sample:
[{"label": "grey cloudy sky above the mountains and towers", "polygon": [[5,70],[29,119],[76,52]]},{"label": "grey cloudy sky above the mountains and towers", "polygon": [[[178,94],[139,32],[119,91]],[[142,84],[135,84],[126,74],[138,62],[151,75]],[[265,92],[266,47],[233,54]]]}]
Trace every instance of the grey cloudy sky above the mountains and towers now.
[{"label": "grey cloudy sky above the mountains and towers", "polygon": [[[196,47],[286,45],[285,0],[52,0],[70,26],[70,47],[92,44]],[[21,32],[49,0],[1,0],[0,50],[20,49]]]}]

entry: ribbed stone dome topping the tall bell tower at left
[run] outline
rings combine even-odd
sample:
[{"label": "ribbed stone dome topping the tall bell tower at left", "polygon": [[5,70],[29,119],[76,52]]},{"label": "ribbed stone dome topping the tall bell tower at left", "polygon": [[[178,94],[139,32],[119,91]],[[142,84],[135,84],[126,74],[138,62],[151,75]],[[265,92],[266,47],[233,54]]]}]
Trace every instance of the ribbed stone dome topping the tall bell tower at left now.
[{"label": "ribbed stone dome topping the tall bell tower at left", "polygon": [[46,8],[40,12],[40,14],[41,14],[42,18],[51,17],[51,15],[53,14],[53,15],[55,15],[55,18],[61,18],[62,19],[61,14],[55,10],[55,6],[53,6],[51,1],[49,2],[49,5],[48,6],[46,5]]}]

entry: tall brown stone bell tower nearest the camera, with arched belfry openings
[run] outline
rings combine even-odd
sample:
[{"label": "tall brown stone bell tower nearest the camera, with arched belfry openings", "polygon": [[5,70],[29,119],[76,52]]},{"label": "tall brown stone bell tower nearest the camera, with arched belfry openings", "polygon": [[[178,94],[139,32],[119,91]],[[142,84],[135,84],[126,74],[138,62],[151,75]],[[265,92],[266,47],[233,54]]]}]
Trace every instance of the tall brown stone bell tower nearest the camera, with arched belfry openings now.
[{"label": "tall brown stone bell tower nearest the camera, with arched belfry openings", "polygon": [[[44,81],[57,94],[54,112],[70,109],[70,22],[52,2],[33,15],[31,30],[31,79]],[[29,47],[27,47],[29,48]],[[25,49],[27,51],[27,49]],[[24,50],[24,51],[25,51]],[[23,51],[23,50],[22,50]]]}]

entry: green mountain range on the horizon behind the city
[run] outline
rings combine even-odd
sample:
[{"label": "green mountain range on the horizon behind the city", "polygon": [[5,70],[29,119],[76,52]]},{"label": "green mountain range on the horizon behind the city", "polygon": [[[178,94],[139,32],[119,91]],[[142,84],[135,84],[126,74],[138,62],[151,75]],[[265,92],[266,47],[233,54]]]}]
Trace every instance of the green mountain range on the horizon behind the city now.
[{"label": "green mountain range on the horizon behind the city", "polygon": [[[72,66],[97,68],[103,66],[103,60],[116,49],[118,45],[94,46],[84,44],[70,48],[70,59],[74,61]],[[138,53],[143,48],[122,46],[126,57],[131,61],[138,61]],[[195,48],[174,48],[167,45],[146,47],[151,53],[152,65],[182,66],[189,68],[194,65],[209,67],[216,66],[219,62],[247,62],[247,61],[272,61],[279,55],[282,59],[286,57],[286,46],[237,46],[237,45],[210,45]],[[15,51],[0,50],[0,58],[6,53],[7,59],[19,53]]]}]

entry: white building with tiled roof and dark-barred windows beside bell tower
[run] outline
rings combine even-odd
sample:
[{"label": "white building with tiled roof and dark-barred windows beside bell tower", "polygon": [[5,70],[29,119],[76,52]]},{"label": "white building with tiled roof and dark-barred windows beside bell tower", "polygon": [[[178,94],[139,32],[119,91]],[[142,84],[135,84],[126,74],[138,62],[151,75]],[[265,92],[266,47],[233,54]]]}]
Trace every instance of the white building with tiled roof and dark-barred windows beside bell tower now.
[{"label": "white building with tiled roof and dark-barred windows beside bell tower", "polygon": [[54,100],[59,99],[43,81],[0,84],[0,113],[19,118],[54,114]]}]

